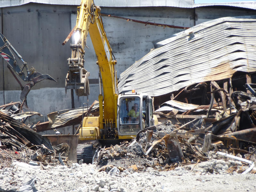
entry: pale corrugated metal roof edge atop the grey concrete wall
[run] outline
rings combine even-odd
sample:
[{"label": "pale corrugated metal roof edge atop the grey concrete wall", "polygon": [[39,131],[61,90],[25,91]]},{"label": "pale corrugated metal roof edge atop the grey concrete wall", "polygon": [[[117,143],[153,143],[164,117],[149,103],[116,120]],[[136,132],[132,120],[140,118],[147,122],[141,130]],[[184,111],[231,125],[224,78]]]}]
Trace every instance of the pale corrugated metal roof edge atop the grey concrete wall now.
[{"label": "pale corrugated metal roof edge atop the grey concrete wall", "polygon": [[[19,6],[27,3],[57,4],[57,5],[79,5],[81,0],[1,0],[0,7]],[[234,6],[248,9],[256,9],[256,2],[234,2],[234,3],[206,3],[194,4],[194,0],[94,0],[95,4],[102,7],[182,7],[195,8],[203,6]]]}]

